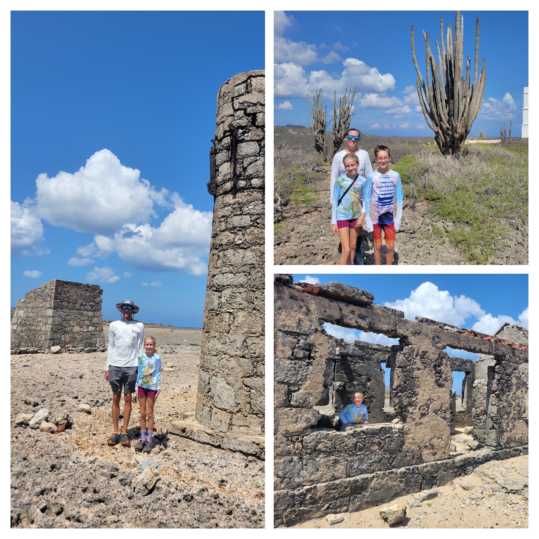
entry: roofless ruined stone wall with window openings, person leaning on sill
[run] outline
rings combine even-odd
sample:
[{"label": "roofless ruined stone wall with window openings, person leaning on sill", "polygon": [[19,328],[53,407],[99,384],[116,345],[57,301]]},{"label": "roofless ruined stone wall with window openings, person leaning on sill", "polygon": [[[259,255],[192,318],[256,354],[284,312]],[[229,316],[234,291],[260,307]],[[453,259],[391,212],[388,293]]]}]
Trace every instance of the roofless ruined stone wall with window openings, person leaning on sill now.
[{"label": "roofless ruined stone wall with window openings, person leaning on sill", "polygon": [[[373,300],[346,285],[313,287],[293,284],[289,275],[275,278],[275,525],[372,507],[445,485],[482,462],[527,453],[527,349],[429,319],[406,320]],[[351,350],[323,330],[324,322],[399,338],[390,393],[400,424],[347,432],[325,426],[316,408],[329,402],[330,365],[340,359],[337,351],[350,357]],[[494,434],[469,453],[451,454],[450,388],[451,371],[471,371],[471,360],[447,356],[447,346],[496,358],[489,388],[496,402],[489,416]],[[473,379],[473,372],[467,377]],[[480,434],[475,424],[472,434]]]}]

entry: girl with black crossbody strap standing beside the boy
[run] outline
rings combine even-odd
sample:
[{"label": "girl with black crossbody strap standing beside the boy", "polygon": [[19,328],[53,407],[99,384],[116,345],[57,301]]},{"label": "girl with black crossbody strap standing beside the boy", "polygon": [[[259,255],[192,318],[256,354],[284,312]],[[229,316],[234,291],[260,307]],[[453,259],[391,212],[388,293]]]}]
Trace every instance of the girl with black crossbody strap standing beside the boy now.
[{"label": "girl with black crossbody strap standing beside the boy", "polygon": [[[360,161],[355,154],[342,158],[346,174],[339,176],[333,188],[331,203],[331,232],[341,240],[342,253],[340,265],[352,265],[356,252],[357,238],[363,236],[363,209],[361,188],[365,178],[357,173]],[[361,246],[361,243],[360,243]]]}]

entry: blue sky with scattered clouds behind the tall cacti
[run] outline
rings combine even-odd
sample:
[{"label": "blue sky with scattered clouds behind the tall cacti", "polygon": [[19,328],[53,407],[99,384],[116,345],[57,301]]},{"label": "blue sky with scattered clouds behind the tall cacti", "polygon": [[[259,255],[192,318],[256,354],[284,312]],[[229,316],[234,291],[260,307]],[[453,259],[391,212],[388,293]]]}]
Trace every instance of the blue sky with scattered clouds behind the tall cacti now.
[{"label": "blue sky with scattered clouds behind the tall cacti", "polygon": [[[383,136],[430,135],[419,107],[417,73],[412,61],[411,26],[416,57],[425,78],[425,40],[429,32],[436,56],[440,15],[454,31],[454,11],[275,12],[274,124],[308,126],[306,94],[323,89],[324,103],[333,114],[333,93],[356,89],[353,126]],[[462,11],[464,58],[475,58],[475,19],[479,17],[479,72],[487,61],[483,105],[470,136],[486,127],[487,136],[500,136],[500,125],[513,121],[513,136],[521,136],[523,87],[528,86],[528,12]],[[353,23],[352,23],[353,21]],[[464,64],[465,65],[465,64]],[[309,98],[310,99],[310,98]]]}]

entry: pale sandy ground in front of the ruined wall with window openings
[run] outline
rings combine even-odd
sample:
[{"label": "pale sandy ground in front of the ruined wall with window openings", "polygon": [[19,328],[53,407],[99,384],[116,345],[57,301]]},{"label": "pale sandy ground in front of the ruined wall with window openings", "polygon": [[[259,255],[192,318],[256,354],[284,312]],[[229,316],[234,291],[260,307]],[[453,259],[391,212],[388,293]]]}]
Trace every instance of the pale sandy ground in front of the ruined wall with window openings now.
[{"label": "pale sandy ground in front of the ruined wall with window openings", "polygon": [[443,487],[293,528],[389,528],[380,510],[393,505],[406,507],[404,520],[393,528],[527,528],[528,455],[490,461]]}]

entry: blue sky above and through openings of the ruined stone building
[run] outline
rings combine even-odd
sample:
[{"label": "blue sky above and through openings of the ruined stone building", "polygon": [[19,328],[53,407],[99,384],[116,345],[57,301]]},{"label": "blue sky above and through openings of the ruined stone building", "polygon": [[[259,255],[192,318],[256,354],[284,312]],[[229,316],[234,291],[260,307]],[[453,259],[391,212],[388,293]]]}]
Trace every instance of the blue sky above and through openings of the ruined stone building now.
[{"label": "blue sky above and through openings of the ruined stone building", "polygon": [[[528,275],[432,274],[432,275],[347,275],[294,274],[294,282],[342,282],[374,295],[379,305],[403,310],[407,319],[416,316],[472,328],[492,335],[503,323],[528,327]],[[398,344],[398,339],[324,324],[331,335],[351,342],[354,339],[381,344]],[[450,356],[475,360],[478,354],[446,349]],[[454,375],[453,389],[459,393],[464,374]],[[389,369],[386,370],[389,386]]]}]

